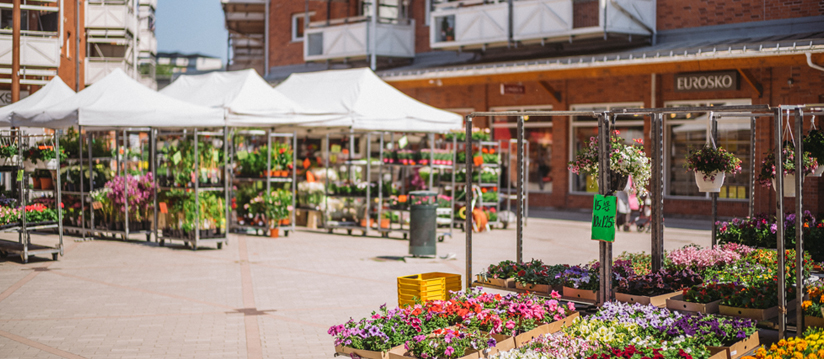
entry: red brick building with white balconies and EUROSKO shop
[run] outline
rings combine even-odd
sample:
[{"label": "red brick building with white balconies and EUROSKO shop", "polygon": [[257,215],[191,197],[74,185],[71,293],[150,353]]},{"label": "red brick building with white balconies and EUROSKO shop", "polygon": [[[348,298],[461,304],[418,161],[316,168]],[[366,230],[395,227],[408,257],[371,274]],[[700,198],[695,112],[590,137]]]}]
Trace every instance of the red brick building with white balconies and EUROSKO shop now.
[{"label": "red brick building with white balconies and EUROSKO shop", "polygon": [[[224,0],[230,69],[256,67],[278,82],[294,72],[372,66],[410,96],[464,114],[824,103],[821,0],[380,0],[374,8],[375,1]],[[710,213],[709,197],[683,168],[687,151],[706,141],[707,118],[666,119],[666,213]],[[477,124],[506,140],[513,120]],[[619,118],[618,127],[628,140],[648,139],[648,118]],[[772,128],[767,118],[755,128],[749,118],[725,119],[719,144],[745,164],[755,156],[757,171]],[[566,163],[594,131],[586,118],[529,119],[530,205],[591,206],[593,180]],[[746,167],[727,180],[720,215],[747,214]],[[807,208],[824,212],[822,179],[805,186]],[[755,198],[756,212],[774,211],[772,189],[756,187]]]}]

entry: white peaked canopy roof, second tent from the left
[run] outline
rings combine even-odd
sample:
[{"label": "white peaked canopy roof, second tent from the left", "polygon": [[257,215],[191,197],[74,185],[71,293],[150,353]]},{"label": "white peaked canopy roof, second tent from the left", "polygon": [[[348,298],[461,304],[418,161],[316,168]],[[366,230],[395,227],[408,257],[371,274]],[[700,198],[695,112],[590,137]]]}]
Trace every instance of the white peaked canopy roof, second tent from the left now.
[{"label": "white peaked canopy roof, second tent from the left", "polygon": [[21,109],[12,126],[223,127],[223,110],[183,102],[157,93],[120,69],[45,108]]}]

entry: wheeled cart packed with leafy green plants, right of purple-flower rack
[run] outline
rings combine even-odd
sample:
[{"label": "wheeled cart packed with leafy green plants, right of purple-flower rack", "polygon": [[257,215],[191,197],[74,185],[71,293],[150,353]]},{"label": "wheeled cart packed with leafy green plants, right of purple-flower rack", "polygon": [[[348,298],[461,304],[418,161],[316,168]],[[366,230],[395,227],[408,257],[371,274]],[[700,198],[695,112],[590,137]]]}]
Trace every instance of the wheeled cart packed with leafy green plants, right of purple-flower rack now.
[{"label": "wheeled cart packed with leafy green plants, right of purple-flower rack", "polygon": [[[163,202],[157,202],[157,200],[155,202],[155,208],[158,209],[155,211],[155,228],[160,245],[179,241],[186,246],[191,246],[192,250],[197,250],[206,243],[214,243],[218,249],[223,248],[223,245],[229,241],[227,229],[230,194],[228,173],[230,136],[228,128],[224,127],[217,131],[204,131],[197,128],[175,131],[155,129],[153,148],[158,148],[157,141],[161,138],[163,151],[157,152],[165,153],[158,153],[152,161],[153,166],[159,169],[155,176],[156,193],[159,193],[157,198],[163,199]],[[212,148],[206,148],[209,147],[205,142],[208,140],[212,140]],[[172,143],[184,144],[188,141],[191,141],[189,146],[193,147],[193,156],[190,159],[193,171],[190,174],[172,171],[172,167],[189,165],[184,161],[183,150],[177,149]],[[201,141],[204,142],[201,144]],[[218,148],[223,151],[222,161],[220,161]],[[210,156],[212,168],[204,167],[205,161],[201,160],[201,152],[204,156]],[[210,200],[214,200],[217,208],[201,206],[201,202],[205,200],[204,196],[207,196],[206,193],[222,193],[222,196],[208,195]],[[176,201],[182,202],[175,203]],[[170,207],[178,207],[182,211],[175,212],[170,210]],[[202,218],[201,214],[204,210],[215,212],[222,218]],[[160,218],[161,216],[163,218]],[[163,228],[160,228],[161,224]]]}]

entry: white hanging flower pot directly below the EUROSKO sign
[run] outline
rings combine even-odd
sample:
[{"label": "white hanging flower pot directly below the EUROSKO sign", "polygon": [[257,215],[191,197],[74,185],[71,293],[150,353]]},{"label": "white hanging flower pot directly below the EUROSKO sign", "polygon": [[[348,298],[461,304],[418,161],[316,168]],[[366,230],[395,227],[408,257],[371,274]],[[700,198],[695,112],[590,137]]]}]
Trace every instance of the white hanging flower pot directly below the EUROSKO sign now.
[{"label": "white hanging flower pot directly below the EUROSKO sign", "polygon": [[741,172],[741,159],[723,147],[706,146],[690,151],[685,166],[695,172],[695,183],[700,192],[721,192],[725,174]]}]

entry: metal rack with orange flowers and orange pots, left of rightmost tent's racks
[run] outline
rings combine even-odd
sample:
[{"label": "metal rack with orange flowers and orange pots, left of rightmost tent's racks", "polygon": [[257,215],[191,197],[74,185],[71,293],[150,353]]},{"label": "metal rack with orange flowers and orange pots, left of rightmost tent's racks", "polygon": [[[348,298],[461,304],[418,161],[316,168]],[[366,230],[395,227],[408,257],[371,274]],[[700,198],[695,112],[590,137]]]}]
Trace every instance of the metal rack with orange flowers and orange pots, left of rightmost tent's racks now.
[{"label": "metal rack with orange flowers and orange pots, left of rightmost tent's racks", "polygon": [[[296,208],[296,200],[297,200],[297,163],[298,163],[298,154],[297,154],[297,147],[298,147],[298,138],[297,133],[273,133],[271,130],[241,130],[241,131],[234,131],[232,134],[232,138],[237,139],[238,135],[243,136],[266,136],[266,146],[267,146],[267,163],[266,163],[266,176],[261,178],[254,178],[254,177],[238,177],[235,174],[235,171],[230,171],[232,175],[232,184],[238,185],[241,183],[252,183],[255,182],[264,182],[266,183],[266,193],[270,193],[272,191],[272,183],[288,183],[291,184],[291,191],[292,191],[292,208]],[[292,171],[289,177],[272,177],[272,142],[277,139],[286,139],[289,141],[291,139],[292,145]],[[233,146],[231,148],[234,150],[235,145],[237,145],[238,141],[232,141]],[[235,153],[228,154],[229,158],[234,161]],[[232,163],[234,164],[234,163]],[[232,197],[234,197],[234,193],[232,193]],[[228,206],[228,203],[227,203]],[[289,226],[288,229],[284,229],[284,235],[287,237],[289,236],[289,232],[295,231],[295,211],[292,210],[291,214],[289,215]],[[231,220],[230,229],[232,230],[246,230],[246,229],[253,229],[255,232],[262,230],[266,231],[269,227],[261,227],[261,226],[253,226],[253,225],[241,225],[238,224],[235,220]],[[283,228],[283,227],[280,227]]]}]

